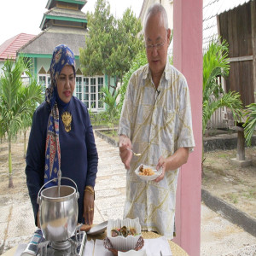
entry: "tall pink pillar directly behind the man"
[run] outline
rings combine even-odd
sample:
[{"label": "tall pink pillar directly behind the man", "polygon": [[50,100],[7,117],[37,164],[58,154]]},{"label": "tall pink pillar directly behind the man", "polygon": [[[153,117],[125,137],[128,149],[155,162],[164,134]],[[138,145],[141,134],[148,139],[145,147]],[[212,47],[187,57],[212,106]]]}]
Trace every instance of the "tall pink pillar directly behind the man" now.
[{"label": "tall pink pillar directly behind the man", "polygon": [[189,84],[195,150],[182,166],[177,185],[174,241],[189,253],[200,255],[201,149],[202,149],[202,0],[174,0],[173,61]]}]

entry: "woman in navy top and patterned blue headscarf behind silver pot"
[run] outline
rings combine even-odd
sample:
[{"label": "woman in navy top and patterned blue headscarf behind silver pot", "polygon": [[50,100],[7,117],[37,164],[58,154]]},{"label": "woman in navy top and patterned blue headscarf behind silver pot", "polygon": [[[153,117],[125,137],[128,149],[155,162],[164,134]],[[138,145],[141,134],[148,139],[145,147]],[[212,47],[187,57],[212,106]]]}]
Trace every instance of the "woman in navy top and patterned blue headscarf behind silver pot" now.
[{"label": "woman in navy top and patterned blue headscarf behind silver pot", "polygon": [[[84,103],[73,96],[75,59],[67,45],[55,47],[50,63],[51,83],[45,101],[33,115],[26,154],[26,183],[38,223],[38,192],[49,180],[69,177],[79,190],[79,223],[91,225],[98,154],[90,116]],[[62,181],[63,180],[63,181]],[[66,179],[62,184],[72,185]],[[56,185],[51,182],[46,185]]]}]

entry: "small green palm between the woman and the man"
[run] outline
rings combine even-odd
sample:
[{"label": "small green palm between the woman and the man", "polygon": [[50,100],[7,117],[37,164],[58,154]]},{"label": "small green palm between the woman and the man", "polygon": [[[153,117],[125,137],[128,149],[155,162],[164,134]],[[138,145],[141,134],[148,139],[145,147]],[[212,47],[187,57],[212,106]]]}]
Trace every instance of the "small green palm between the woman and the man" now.
[{"label": "small green palm between the woman and the man", "polygon": [[117,97],[119,96],[119,90],[116,90],[114,95],[110,93],[108,87],[102,87],[102,92],[104,93],[103,102],[107,105],[106,113],[108,114],[108,126],[112,127],[113,133],[113,126],[115,119],[119,119],[118,117],[118,108],[117,108]]}]

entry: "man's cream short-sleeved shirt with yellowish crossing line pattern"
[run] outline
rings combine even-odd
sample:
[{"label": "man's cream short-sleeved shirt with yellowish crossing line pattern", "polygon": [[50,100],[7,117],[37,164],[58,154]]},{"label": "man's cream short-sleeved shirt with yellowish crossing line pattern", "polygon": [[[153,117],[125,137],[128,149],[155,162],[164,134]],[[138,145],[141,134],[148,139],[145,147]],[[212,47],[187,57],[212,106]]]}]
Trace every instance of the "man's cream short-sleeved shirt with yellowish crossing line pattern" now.
[{"label": "man's cream short-sleeved shirt with yellowish crossing line pattern", "polygon": [[132,158],[127,171],[124,218],[138,217],[142,230],[172,239],[179,169],[166,172],[159,183],[143,181],[134,171],[140,164],[156,166],[160,156],[166,158],[177,148],[192,151],[195,147],[189,88],[183,74],[167,63],[156,90],[148,64],[133,73],[119,134],[129,137],[134,151],[142,153]]}]

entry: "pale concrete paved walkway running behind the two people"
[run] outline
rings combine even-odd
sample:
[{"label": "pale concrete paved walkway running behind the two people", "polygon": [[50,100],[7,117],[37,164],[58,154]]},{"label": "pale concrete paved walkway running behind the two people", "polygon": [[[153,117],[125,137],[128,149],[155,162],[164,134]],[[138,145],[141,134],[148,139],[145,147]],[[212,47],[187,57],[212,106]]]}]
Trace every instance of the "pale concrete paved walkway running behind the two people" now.
[{"label": "pale concrete paved walkway running behind the two people", "polygon": [[[126,172],[119,159],[119,148],[100,137],[96,137],[96,146],[99,171],[94,223],[99,224],[109,218],[123,218]],[[0,211],[0,249],[4,252],[29,240],[35,226],[28,198],[22,206],[14,199],[8,206],[0,206]],[[201,204],[201,256],[209,255],[256,255],[256,237]]]}]

